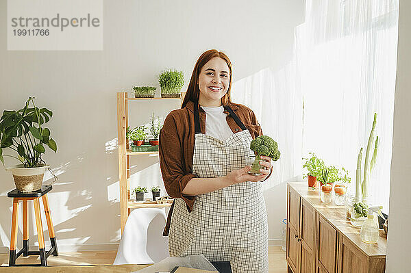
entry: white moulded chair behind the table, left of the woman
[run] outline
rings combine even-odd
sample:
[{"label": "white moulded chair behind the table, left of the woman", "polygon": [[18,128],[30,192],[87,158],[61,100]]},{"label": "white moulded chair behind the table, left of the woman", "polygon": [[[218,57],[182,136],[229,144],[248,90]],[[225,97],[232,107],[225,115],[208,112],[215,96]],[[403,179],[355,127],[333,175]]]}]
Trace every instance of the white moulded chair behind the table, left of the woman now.
[{"label": "white moulded chair behind the table, left of the woman", "polygon": [[169,257],[169,237],[162,235],[165,224],[162,209],[134,209],[125,223],[113,264],[157,263]]}]

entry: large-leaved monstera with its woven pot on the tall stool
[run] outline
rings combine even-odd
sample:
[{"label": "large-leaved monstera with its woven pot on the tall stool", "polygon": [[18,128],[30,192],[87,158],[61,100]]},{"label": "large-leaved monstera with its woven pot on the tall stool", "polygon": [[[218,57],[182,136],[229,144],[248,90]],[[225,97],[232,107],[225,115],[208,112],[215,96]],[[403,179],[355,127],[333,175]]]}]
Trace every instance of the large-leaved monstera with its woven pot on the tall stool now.
[{"label": "large-leaved monstera with its woven pot on the tall stool", "polygon": [[[30,103],[33,107],[29,107]],[[32,192],[40,190],[45,170],[49,165],[42,159],[46,152],[45,145],[57,152],[57,144],[50,137],[50,129],[45,128],[53,112],[38,108],[34,97],[29,97],[25,107],[20,110],[5,110],[0,118],[0,161],[4,166],[4,157],[13,157],[22,164],[11,170],[17,190]],[[3,155],[3,149],[10,148],[17,156]]]}]

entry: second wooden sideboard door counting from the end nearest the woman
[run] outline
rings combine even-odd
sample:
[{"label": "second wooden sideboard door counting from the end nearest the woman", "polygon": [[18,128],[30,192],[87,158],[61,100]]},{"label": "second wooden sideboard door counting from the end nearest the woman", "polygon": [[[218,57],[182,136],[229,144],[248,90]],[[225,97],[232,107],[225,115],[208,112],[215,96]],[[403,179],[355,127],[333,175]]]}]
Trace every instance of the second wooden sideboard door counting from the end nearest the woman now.
[{"label": "second wooden sideboard door counting from the end nearest the woman", "polygon": [[308,202],[301,198],[300,207],[300,270],[299,272],[314,273],[314,242],[315,242],[315,211]]}]

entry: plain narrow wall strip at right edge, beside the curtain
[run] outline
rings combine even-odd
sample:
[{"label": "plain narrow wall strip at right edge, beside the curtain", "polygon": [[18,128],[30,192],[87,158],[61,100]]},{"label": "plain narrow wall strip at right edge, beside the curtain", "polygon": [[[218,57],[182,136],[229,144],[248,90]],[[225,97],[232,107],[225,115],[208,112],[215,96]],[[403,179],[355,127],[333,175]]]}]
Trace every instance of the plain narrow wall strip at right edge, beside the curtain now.
[{"label": "plain narrow wall strip at right edge, beside the curtain", "polygon": [[406,272],[410,268],[411,181],[411,2],[399,5],[397,83],[395,87],[393,159],[391,160],[390,220],[386,272]]}]

